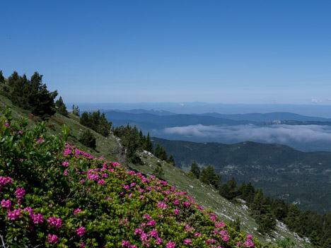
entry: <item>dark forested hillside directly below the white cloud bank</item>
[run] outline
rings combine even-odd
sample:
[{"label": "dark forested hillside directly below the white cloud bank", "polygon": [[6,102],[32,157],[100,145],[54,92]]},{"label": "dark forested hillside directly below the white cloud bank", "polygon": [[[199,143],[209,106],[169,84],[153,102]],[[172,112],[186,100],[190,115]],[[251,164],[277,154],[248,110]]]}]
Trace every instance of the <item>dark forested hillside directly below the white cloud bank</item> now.
[{"label": "dark forested hillside directly below the white cloud bank", "polygon": [[211,164],[224,182],[252,182],[273,197],[296,202],[302,209],[331,212],[331,153],[301,152],[288,146],[243,142],[194,143],[153,138],[173,154],[177,165]]}]

